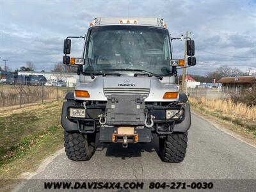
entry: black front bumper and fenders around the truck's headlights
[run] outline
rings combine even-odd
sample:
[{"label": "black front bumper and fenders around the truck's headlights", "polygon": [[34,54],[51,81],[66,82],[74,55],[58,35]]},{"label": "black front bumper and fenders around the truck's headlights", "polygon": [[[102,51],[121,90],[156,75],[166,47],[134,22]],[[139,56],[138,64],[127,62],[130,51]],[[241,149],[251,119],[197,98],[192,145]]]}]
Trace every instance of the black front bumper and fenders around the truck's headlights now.
[{"label": "black front bumper and fenders around the truck's headlights", "polygon": [[[151,133],[156,132],[158,134],[171,134],[173,132],[186,132],[191,124],[191,115],[189,102],[184,101],[184,113],[179,119],[165,119],[166,109],[179,109],[180,105],[173,104],[172,106],[164,107],[157,106],[154,103],[145,103],[146,110],[150,115],[153,115],[154,126],[147,128],[143,125],[132,125],[134,131],[138,133],[138,142],[148,142],[151,140]],[[106,103],[94,102],[86,106],[85,118],[73,118],[69,116],[69,108],[84,108],[83,104],[75,102],[74,100],[68,100],[63,103],[61,125],[66,131],[79,131],[84,133],[100,132],[101,141],[113,141],[113,134],[117,131],[119,125],[101,126],[99,124],[99,118],[106,109]],[[136,128],[137,127],[137,128]],[[140,127],[140,129],[138,129]],[[142,128],[141,128],[142,127]],[[134,132],[134,134],[136,134]],[[102,134],[101,134],[102,133]]]}]

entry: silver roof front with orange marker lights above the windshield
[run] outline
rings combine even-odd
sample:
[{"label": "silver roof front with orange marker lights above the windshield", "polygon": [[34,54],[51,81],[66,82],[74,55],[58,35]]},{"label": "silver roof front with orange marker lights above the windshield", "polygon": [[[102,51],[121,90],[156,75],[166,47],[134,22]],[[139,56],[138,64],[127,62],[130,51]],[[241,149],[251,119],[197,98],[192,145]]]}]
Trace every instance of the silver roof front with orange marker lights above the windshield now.
[{"label": "silver roof front with orange marker lights above the windshield", "polygon": [[99,25],[124,25],[124,24],[138,24],[146,26],[159,26],[166,28],[166,24],[163,19],[152,17],[96,17],[90,23],[90,26]]}]

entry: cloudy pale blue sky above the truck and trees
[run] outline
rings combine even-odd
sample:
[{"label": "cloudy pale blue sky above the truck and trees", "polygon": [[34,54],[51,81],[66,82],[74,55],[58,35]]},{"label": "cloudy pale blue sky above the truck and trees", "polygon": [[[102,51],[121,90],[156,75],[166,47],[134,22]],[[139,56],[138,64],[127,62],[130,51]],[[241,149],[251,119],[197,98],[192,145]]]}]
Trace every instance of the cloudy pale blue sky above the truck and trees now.
[{"label": "cloudy pale blue sky above the truck and trees", "polygon": [[[0,65],[15,70],[33,61],[51,71],[62,61],[63,40],[83,36],[95,17],[160,17],[172,37],[191,31],[197,64],[189,74],[204,75],[227,65],[256,71],[256,1],[4,1],[0,0]],[[71,56],[83,42],[72,40]],[[184,58],[184,42],[173,42]]]}]

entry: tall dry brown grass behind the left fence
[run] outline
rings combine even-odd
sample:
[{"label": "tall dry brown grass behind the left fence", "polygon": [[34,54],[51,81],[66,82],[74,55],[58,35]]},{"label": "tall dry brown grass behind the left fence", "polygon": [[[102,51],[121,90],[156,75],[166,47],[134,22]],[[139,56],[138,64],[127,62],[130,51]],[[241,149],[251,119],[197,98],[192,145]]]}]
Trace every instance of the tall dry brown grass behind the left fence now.
[{"label": "tall dry brown grass behind the left fence", "polygon": [[[22,86],[22,104],[44,100],[57,99],[57,88],[44,86],[44,95],[42,95],[42,86]],[[63,99],[67,93],[67,88],[58,88],[58,99]],[[14,106],[20,104],[20,86],[19,85],[0,85],[0,107]]]}]

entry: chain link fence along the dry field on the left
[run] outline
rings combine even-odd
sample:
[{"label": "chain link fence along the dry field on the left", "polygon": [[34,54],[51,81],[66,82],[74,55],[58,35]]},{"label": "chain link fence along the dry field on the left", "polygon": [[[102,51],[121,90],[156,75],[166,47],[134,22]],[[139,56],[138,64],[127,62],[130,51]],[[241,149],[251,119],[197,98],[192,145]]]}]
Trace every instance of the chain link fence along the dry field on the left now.
[{"label": "chain link fence along the dry field on the left", "polygon": [[0,108],[22,106],[36,102],[49,102],[65,98],[67,92],[74,91],[69,84],[45,86],[44,83],[32,85],[31,82],[17,81],[13,84],[0,84]]}]

